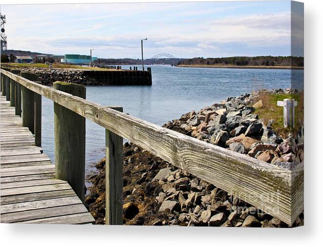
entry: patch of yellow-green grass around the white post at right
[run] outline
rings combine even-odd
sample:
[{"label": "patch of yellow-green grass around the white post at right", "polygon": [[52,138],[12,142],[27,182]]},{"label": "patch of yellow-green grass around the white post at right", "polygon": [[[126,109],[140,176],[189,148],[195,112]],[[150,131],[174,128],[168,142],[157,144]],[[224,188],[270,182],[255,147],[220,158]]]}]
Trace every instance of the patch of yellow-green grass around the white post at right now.
[{"label": "patch of yellow-green grass around the white post at right", "polygon": [[[277,106],[277,101],[285,98],[293,98],[297,101],[298,106],[295,107],[295,127],[284,127],[283,122],[283,107]],[[259,118],[263,118],[265,124],[270,119],[274,119],[272,124],[273,130],[280,134],[283,138],[287,138],[291,133],[296,136],[301,125],[304,122],[304,95],[303,92],[299,94],[270,94],[268,92],[260,92],[259,100],[262,100],[262,108],[256,109],[256,114]]]}]

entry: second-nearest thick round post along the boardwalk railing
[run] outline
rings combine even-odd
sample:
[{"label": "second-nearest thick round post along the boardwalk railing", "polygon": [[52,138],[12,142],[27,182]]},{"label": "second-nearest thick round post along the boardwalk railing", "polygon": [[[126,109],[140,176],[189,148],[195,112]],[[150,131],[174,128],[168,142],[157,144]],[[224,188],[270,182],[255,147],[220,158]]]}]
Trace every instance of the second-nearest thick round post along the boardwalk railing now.
[{"label": "second-nearest thick round post along the boardwalk railing", "polygon": [[[20,76],[38,81],[39,76],[27,72],[21,72]],[[35,134],[35,94],[33,91],[21,85],[22,90],[22,126],[28,127]]]}]

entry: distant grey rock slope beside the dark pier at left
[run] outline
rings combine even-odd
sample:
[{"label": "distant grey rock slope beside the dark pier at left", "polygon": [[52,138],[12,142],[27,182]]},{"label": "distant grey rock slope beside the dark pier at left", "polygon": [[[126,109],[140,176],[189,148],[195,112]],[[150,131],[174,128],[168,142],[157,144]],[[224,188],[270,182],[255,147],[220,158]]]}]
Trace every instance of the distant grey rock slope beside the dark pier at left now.
[{"label": "distant grey rock slope beside the dark pier at left", "polygon": [[22,68],[21,71],[33,73],[39,76],[39,80],[43,85],[52,85],[55,81],[65,81],[70,83],[77,83],[82,85],[99,86],[100,83],[89,76],[83,75],[83,70],[71,69],[47,69],[27,67]]}]

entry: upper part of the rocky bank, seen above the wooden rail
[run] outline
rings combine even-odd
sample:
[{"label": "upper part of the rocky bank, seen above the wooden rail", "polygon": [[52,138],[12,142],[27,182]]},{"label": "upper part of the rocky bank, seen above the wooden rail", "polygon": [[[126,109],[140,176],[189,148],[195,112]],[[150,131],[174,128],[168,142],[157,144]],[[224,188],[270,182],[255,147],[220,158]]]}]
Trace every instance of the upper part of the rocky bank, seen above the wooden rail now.
[{"label": "upper part of the rocky bank, seen above the wooden rail", "polygon": [[255,98],[256,94],[230,97],[184,114],[163,127],[291,169],[303,160],[303,129],[296,138],[290,135],[283,140],[271,127],[274,120],[265,124],[254,114],[262,106],[261,100],[253,103]]}]

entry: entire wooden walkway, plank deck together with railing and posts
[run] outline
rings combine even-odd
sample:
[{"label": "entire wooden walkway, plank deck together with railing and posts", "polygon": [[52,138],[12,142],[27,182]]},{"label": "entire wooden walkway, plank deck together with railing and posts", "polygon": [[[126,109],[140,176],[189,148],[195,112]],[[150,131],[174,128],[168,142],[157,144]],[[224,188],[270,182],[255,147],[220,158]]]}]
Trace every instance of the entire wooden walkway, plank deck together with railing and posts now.
[{"label": "entire wooden walkway, plank deck together with railing and posts", "polygon": [[[292,225],[303,210],[303,163],[292,171],[85,99],[85,87],[37,83],[1,69],[1,223],[92,223],[83,205],[85,119],[106,129],[106,224],[123,224],[123,138]],[[4,98],[5,95],[5,98]],[[55,165],[41,149],[41,98],[54,102]]]}]

